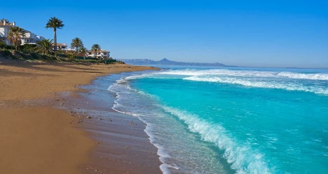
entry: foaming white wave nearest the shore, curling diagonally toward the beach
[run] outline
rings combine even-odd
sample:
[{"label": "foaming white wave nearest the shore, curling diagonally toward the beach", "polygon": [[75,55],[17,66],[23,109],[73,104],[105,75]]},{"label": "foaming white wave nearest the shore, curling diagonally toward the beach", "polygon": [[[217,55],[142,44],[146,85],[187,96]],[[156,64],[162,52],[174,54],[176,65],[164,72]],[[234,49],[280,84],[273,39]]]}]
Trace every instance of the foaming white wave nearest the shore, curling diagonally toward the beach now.
[{"label": "foaming white wave nearest the shore, curling diagonally toward the beach", "polygon": [[272,172],[267,162],[264,161],[263,154],[247,145],[235,142],[228,136],[227,131],[222,126],[212,125],[196,115],[172,107],[162,106],[162,108],[188,124],[188,128],[192,132],[199,133],[204,141],[215,143],[219,149],[224,150],[224,158],[227,159],[228,163],[231,164],[231,168],[236,170],[237,173]]}]

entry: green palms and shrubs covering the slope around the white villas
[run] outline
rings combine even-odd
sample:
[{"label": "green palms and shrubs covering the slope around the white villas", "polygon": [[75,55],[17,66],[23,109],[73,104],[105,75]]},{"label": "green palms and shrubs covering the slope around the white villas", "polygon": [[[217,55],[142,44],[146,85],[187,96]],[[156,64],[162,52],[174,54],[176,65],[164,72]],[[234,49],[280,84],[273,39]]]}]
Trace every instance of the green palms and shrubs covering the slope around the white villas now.
[{"label": "green palms and shrubs covering the slope around the white villas", "polygon": [[[0,19],[0,22],[9,23],[7,19]],[[109,57],[108,59],[99,59],[98,53],[101,47],[94,44],[91,48],[95,52],[95,57],[87,57],[87,48],[84,47],[82,40],[78,37],[72,39],[71,50],[57,50],[56,30],[64,27],[63,21],[56,17],[51,17],[46,24],[46,28],[52,28],[54,31],[54,39],[43,39],[36,44],[22,45],[22,39],[25,37],[25,32],[22,28],[12,27],[8,34],[8,39],[11,44],[7,45],[5,41],[0,40],[0,58],[19,59],[27,61],[47,61],[47,62],[83,62],[83,63],[124,63],[116,61]]]}]

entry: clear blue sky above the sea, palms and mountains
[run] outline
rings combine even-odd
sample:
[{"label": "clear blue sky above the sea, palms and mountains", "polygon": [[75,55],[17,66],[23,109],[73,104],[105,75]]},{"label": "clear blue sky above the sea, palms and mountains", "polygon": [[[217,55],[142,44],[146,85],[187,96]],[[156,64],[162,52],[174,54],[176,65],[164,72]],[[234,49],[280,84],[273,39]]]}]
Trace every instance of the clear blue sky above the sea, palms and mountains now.
[{"label": "clear blue sky above the sea, palms and mountains", "polygon": [[3,1],[0,18],[114,58],[328,68],[328,1]]}]

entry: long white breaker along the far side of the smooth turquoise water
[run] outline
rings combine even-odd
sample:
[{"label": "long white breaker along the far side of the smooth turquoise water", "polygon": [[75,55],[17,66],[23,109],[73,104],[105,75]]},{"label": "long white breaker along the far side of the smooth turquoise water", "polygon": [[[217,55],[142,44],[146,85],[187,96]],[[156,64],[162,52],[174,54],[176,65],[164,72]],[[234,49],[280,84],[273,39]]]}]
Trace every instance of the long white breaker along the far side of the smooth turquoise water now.
[{"label": "long white breaker along the far side of the smooth turquoise water", "polygon": [[257,88],[271,88],[271,89],[282,89],[289,91],[305,91],[312,92],[316,94],[328,94],[328,89],[321,88],[318,86],[304,86],[302,84],[292,84],[292,83],[279,83],[273,81],[251,81],[230,77],[185,77],[183,80],[192,81],[208,81],[208,82],[220,82],[220,83],[230,83],[230,84],[240,84],[244,86],[252,86]]}]

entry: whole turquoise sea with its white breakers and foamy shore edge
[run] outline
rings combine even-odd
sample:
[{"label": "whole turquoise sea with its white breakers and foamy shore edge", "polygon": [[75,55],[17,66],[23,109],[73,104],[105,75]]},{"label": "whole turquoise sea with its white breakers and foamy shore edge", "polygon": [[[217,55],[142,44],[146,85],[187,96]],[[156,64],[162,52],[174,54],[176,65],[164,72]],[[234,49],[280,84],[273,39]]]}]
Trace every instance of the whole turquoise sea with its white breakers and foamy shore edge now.
[{"label": "whole turquoise sea with its white breakers and foamy shore edge", "polygon": [[122,77],[167,173],[328,173],[328,71],[166,67]]}]

